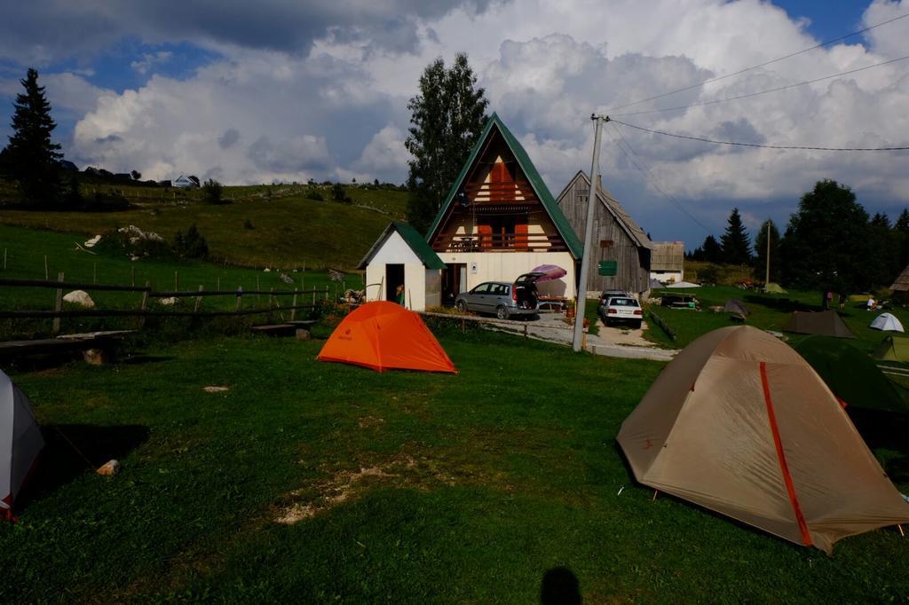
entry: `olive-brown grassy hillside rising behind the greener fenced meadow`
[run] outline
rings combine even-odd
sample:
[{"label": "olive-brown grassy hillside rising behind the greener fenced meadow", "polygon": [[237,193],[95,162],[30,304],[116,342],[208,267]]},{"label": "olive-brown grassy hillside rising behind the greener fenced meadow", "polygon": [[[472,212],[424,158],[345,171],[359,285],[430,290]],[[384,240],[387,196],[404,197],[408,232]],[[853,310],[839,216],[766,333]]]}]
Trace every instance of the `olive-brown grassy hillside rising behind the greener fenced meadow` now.
[{"label": "olive-brown grassy hillside rising behind the greener fenced meadow", "polygon": [[[373,185],[351,185],[351,203],[332,202],[331,188],[315,185],[325,201],[306,197],[308,185],[225,187],[224,205],[203,201],[201,191],[83,184],[85,196],[117,190],[130,203],[124,212],[34,212],[0,208],[0,223],[87,236],[134,224],[171,241],[193,223],[218,259],[247,267],[355,267],[375,238],[405,215],[407,193]],[[0,186],[0,200],[15,189]],[[35,250],[35,253],[40,252]]]}]

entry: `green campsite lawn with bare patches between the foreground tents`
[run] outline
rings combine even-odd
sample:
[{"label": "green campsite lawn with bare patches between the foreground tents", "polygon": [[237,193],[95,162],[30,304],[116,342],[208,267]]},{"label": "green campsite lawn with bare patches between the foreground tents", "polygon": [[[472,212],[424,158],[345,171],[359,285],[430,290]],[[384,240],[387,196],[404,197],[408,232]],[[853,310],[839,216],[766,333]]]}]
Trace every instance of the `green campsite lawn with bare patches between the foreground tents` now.
[{"label": "green campsite lawn with bare patches between the foreground tents", "polygon": [[[256,338],[15,373],[48,448],[21,521],[0,525],[0,599],[526,603],[556,567],[592,603],[909,594],[895,531],[831,558],[652,501],[614,437],[661,364],[436,331],[459,374]],[[95,475],[63,435],[123,471]]]}]

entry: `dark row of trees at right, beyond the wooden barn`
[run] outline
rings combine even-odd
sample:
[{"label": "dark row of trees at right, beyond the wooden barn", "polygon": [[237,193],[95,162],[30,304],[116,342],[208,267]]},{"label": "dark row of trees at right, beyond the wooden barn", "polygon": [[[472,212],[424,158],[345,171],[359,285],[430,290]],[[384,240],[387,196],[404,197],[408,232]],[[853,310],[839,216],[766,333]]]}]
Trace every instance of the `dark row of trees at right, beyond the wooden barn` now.
[{"label": "dark row of trees at right, beyond the wooden barn", "polygon": [[748,265],[763,281],[768,252],[771,282],[835,293],[886,287],[909,264],[909,209],[893,223],[885,213],[870,216],[848,185],[825,179],[804,193],[782,236],[767,219],[752,248],[734,208],[720,241],[708,235],[687,257]]}]

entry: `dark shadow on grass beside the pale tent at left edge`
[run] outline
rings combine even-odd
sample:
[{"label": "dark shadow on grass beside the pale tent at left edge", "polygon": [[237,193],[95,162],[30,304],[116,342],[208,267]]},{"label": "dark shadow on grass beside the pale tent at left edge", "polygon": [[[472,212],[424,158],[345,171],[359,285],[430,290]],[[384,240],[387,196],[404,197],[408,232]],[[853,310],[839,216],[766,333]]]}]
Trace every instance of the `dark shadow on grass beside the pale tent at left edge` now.
[{"label": "dark shadow on grass beside the pale tent at left edge", "polygon": [[[85,472],[111,459],[121,460],[148,440],[148,427],[139,424],[98,426],[95,424],[50,424],[41,428],[45,449],[34,474],[16,498],[15,508],[51,493]],[[87,459],[87,460],[86,460]]]}]

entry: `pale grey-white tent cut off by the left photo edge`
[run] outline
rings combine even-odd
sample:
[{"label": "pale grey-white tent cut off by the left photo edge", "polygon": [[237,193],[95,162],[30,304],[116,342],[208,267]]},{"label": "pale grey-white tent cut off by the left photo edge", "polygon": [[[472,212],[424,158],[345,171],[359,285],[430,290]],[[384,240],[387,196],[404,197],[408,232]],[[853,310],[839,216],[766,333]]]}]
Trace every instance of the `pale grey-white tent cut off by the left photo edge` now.
[{"label": "pale grey-white tent cut off by the left photo edge", "polygon": [[10,514],[44,447],[28,398],[0,372],[0,514]]}]

